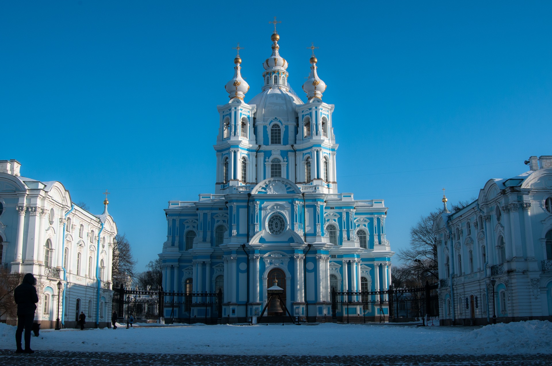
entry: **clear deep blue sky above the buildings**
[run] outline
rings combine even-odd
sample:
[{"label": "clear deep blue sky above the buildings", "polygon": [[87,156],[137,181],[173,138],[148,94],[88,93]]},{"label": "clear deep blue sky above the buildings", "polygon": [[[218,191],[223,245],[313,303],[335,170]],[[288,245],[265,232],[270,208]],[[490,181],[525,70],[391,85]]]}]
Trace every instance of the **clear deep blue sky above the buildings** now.
[{"label": "clear deep blue sky above the buildings", "polygon": [[260,92],[277,16],[300,93],[315,42],[338,187],[384,198],[392,249],[420,215],[552,154],[552,2],[0,2],[0,159],[109,212],[142,270],[163,208],[214,191],[240,42]]}]

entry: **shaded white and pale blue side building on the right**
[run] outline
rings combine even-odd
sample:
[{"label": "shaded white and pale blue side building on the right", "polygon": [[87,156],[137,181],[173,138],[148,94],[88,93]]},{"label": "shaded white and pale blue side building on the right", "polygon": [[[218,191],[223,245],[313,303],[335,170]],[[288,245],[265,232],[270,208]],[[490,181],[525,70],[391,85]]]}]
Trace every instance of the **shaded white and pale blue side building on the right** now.
[{"label": "shaded white and pale blue side building on the right", "polygon": [[440,324],[552,320],[552,156],[434,222]]}]

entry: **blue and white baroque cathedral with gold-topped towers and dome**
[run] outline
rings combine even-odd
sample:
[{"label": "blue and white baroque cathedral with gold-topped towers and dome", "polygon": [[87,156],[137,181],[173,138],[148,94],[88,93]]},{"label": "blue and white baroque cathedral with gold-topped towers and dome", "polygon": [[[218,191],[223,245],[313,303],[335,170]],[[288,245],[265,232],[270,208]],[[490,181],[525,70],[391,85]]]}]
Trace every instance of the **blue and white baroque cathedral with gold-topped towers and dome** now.
[{"label": "blue and white baroque cathedral with gold-topped towers and dome", "polygon": [[331,321],[332,289],[380,290],[391,283],[388,208],[383,200],[338,192],[334,105],[322,101],[326,84],[317,59],[313,52],[305,103],[290,87],[279,39],[274,31],[261,93],[248,103],[236,47],[225,86],[229,101],[217,106],[215,193],[169,201],[164,210],[163,288],[222,292],[227,322],[261,314],[274,285],[293,317]]}]

